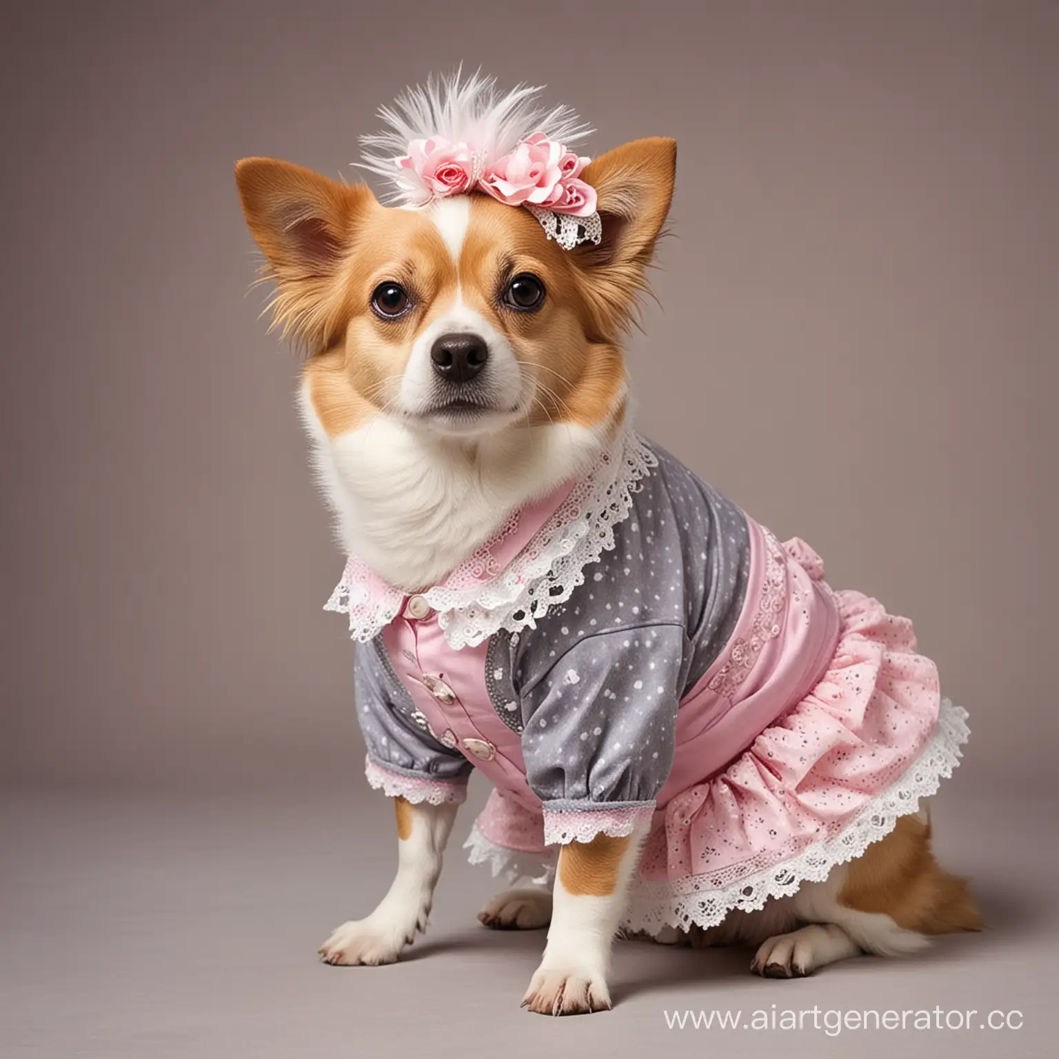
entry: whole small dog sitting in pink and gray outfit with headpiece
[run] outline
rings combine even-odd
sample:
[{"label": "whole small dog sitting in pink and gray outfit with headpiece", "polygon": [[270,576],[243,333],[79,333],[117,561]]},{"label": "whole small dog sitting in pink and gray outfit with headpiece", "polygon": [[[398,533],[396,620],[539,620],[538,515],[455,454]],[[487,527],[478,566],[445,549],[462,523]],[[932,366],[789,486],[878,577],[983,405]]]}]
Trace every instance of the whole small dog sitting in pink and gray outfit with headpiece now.
[{"label": "whole small dog sitting in pink and gray outfit with headpiece", "polygon": [[[812,973],[976,930],[920,800],[957,764],[911,624],[834,591],[628,421],[621,341],[666,220],[676,143],[595,160],[538,90],[474,75],[383,108],[380,204],[240,161],[275,321],[348,561],[367,778],[399,866],[320,950],[396,961],[426,928],[467,776],[495,790],[472,861],[528,884],[480,914],[550,925],[523,1004],[610,1006],[618,931],[750,943]],[[551,892],[544,886],[551,885]]]}]

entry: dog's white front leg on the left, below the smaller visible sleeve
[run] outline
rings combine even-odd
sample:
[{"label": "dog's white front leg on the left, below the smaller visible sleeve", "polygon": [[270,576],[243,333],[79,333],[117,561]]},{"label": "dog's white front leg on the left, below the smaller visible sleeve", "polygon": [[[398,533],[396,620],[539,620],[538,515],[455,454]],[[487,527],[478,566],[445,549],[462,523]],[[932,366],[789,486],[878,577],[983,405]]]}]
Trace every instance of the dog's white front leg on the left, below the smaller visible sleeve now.
[{"label": "dog's white front leg on the left, below the smaller visible sleeve", "polygon": [[337,928],[320,949],[327,964],[392,964],[415,932],[427,928],[442,852],[459,806],[412,805],[394,798],[397,812],[397,875],[366,918]]}]

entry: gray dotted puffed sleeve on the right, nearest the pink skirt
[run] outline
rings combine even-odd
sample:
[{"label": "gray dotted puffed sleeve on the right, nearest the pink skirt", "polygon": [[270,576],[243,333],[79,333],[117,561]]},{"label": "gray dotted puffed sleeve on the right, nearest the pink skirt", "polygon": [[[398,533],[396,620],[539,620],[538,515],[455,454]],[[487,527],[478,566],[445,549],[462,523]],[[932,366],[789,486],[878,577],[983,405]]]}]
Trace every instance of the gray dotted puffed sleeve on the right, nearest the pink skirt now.
[{"label": "gray dotted puffed sleeve on the right, nearest the pink skirt", "polygon": [[672,767],[684,658],[677,625],[597,633],[523,690],[526,777],[545,816],[653,806]]}]

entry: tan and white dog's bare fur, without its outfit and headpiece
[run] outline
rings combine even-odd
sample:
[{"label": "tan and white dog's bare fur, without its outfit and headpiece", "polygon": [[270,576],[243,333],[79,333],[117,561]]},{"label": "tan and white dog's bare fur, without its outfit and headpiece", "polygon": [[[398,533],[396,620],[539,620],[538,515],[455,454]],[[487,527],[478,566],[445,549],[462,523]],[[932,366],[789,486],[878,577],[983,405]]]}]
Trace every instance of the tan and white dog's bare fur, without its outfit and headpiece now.
[{"label": "tan and white dog's bare fur, without its outfit and headpiece", "polygon": [[[598,244],[563,249],[531,212],[471,191],[388,208],[289,162],[236,166],[247,222],[275,283],[274,317],[302,344],[301,410],[347,552],[408,594],[437,584],[503,519],[590,467],[624,423],[622,351],[674,190],[677,146],[636,140],[581,178]],[[399,865],[366,918],[339,927],[331,964],[396,961],[426,928],[456,806],[395,798]],[[552,893],[507,891],[479,918],[549,927],[524,1004],[610,1006],[607,968],[645,828],[561,847]],[[909,953],[981,927],[931,854],[926,813],[825,881],[670,944],[757,947],[790,977],[859,952]]]}]

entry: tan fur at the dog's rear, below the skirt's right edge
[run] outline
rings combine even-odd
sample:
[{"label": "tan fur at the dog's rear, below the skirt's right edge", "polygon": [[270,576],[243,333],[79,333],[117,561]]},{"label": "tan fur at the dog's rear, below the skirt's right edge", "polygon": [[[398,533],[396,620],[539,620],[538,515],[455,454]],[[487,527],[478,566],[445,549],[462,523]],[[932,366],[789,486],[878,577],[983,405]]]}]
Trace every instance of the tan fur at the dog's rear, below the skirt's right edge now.
[{"label": "tan fur at the dog's rear, below the skirt's right edge", "polygon": [[982,930],[977,904],[963,879],[943,870],[931,850],[930,824],[901,816],[886,838],[851,861],[839,903],[881,912],[907,930],[948,934]]}]

